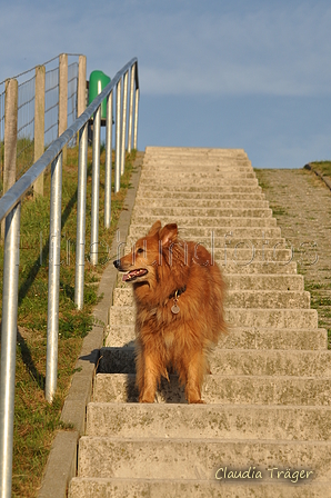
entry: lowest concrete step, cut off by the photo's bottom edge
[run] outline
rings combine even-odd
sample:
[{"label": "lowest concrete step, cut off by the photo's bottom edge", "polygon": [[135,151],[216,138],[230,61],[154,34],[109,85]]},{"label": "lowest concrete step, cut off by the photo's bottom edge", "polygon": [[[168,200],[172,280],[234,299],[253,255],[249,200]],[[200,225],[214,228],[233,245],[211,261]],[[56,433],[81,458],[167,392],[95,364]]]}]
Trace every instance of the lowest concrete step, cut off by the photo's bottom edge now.
[{"label": "lowest concrete step, cut off by the photo's bottom edge", "polygon": [[[264,478],[264,480],[267,477]],[[305,478],[302,478],[305,479]],[[293,479],[294,481],[295,479]],[[278,482],[275,475],[270,482],[227,484],[202,479],[119,479],[119,478],[74,478],[71,481],[69,498],[331,498],[331,482],[289,485]],[[220,495],[221,494],[221,495]]]}]

